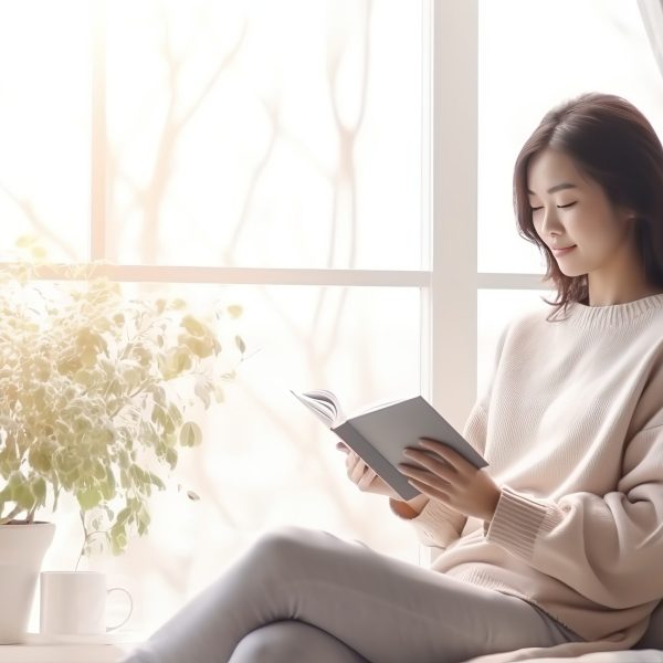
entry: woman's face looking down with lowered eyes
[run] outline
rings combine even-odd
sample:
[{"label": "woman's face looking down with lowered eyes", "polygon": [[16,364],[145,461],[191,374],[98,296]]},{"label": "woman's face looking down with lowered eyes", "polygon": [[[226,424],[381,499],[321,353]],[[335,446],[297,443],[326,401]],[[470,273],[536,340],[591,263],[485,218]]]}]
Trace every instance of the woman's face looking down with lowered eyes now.
[{"label": "woman's face looking down with lowered eyes", "polygon": [[539,238],[550,249],[575,246],[552,252],[562,274],[588,274],[590,284],[593,280],[594,285],[611,290],[610,282],[619,283],[624,271],[639,269],[632,214],[615,208],[602,187],[580,172],[570,157],[550,148],[536,155],[529,162],[527,183]]}]

